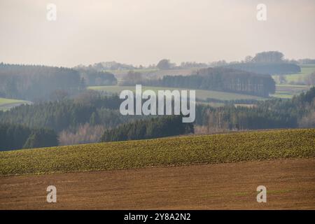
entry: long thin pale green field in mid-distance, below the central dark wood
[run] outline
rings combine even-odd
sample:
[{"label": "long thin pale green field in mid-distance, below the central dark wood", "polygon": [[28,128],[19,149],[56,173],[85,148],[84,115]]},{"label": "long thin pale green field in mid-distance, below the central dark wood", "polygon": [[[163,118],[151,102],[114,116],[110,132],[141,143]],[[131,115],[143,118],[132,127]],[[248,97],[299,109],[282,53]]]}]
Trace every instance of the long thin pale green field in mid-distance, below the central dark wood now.
[{"label": "long thin pale green field in mid-distance, below the central dark wood", "polygon": [[[118,86],[118,85],[109,85],[109,86],[90,86],[90,90],[98,90],[108,92],[110,94],[120,94],[123,90],[132,90],[135,91],[135,86]],[[188,89],[179,89],[173,87],[142,87],[142,92],[145,90],[153,90],[158,92],[158,90],[188,90]],[[262,97],[256,97],[246,94],[238,94],[233,92],[218,92],[218,91],[209,91],[209,90],[196,90],[197,99],[220,99],[220,100],[235,100],[235,99],[264,99]]]}]

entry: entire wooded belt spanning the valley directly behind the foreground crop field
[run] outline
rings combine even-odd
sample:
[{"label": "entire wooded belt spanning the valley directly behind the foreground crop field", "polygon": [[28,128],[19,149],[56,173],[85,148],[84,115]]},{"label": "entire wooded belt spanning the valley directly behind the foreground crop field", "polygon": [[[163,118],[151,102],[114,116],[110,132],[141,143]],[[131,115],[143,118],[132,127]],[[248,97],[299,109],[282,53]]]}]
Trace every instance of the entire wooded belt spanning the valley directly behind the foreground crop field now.
[{"label": "entire wooded belt spanning the valley directly behind the foreground crop field", "polygon": [[293,99],[269,99],[248,107],[232,102],[218,108],[197,104],[195,123],[187,124],[181,116],[122,116],[118,109],[123,99],[87,91],[74,99],[1,111],[1,150],[54,146],[54,133],[62,133],[63,144],[69,144],[67,138],[76,144],[188,134],[194,132],[193,125],[206,127],[207,132],[315,127],[314,99],[315,87]]}]

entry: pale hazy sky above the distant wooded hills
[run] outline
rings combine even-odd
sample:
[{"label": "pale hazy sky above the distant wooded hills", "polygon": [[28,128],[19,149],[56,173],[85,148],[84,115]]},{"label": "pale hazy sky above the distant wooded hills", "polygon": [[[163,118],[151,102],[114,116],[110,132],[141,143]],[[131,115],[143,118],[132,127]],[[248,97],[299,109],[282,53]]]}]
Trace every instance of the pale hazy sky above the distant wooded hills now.
[{"label": "pale hazy sky above the distant wooded hills", "polygon": [[[48,3],[57,20],[46,19]],[[267,21],[256,19],[258,3]],[[75,66],[315,58],[314,0],[0,0],[0,62]]]}]

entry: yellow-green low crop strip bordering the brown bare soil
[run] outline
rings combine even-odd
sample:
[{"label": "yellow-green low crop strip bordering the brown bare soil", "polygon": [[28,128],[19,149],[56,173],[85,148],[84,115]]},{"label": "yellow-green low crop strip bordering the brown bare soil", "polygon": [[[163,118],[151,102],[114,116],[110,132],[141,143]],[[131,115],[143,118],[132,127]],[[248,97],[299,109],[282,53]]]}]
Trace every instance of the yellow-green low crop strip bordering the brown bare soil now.
[{"label": "yellow-green low crop strip bordering the brown bare soil", "polygon": [[0,175],[314,157],[315,129],[238,132],[0,152]]}]

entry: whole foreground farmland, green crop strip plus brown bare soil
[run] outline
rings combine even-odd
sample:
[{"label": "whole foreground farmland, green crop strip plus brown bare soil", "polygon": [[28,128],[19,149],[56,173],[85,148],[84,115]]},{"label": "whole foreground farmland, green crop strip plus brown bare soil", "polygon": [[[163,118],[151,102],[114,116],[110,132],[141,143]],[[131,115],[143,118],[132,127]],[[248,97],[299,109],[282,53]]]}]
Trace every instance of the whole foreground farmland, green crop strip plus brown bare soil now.
[{"label": "whole foreground farmland, green crop strip plus brown bare soil", "polygon": [[315,209],[314,146],[309,129],[0,152],[0,209]]}]

